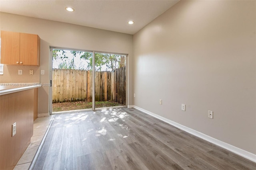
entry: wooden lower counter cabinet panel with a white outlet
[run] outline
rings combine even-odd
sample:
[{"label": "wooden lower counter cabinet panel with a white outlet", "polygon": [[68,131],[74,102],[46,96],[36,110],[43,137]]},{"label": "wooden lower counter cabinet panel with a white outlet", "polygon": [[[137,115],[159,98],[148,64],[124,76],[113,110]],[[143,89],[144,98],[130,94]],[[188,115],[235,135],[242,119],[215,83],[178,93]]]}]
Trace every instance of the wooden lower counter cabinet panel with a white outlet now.
[{"label": "wooden lower counter cabinet panel with a white outlet", "polygon": [[[30,144],[36,91],[29,89],[0,96],[0,170],[12,170]],[[12,137],[15,122],[16,135]]]}]

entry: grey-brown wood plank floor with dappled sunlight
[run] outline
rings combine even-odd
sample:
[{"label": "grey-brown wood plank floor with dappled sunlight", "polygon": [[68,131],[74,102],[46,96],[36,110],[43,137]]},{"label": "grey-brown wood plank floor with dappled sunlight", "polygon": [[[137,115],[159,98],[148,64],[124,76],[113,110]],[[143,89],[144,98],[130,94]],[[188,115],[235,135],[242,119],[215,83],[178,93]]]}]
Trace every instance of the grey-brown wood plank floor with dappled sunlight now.
[{"label": "grey-brown wood plank floor with dappled sunlight", "polygon": [[134,108],[56,115],[36,170],[255,170],[242,158]]}]

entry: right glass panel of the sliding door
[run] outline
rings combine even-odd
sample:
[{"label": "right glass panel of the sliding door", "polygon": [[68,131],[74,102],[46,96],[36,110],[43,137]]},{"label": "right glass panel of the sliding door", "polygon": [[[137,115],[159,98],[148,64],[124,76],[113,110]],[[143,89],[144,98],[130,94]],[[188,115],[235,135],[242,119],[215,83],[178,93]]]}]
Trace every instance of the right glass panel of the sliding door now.
[{"label": "right glass panel of the sliding door", "polygon": [[95,109],[126,105],[126,56],[95,53]]}]

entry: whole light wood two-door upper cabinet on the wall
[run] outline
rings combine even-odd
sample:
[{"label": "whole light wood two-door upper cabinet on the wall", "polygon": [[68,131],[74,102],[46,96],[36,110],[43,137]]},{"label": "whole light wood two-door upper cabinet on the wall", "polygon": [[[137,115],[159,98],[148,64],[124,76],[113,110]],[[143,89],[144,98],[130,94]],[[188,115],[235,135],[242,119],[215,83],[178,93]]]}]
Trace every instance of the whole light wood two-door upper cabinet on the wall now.
[{"label": "whole light wood two-door upper cabinet on the wall", "polygon": [[40,65],[40,37],[1,31],[1,64]]}]

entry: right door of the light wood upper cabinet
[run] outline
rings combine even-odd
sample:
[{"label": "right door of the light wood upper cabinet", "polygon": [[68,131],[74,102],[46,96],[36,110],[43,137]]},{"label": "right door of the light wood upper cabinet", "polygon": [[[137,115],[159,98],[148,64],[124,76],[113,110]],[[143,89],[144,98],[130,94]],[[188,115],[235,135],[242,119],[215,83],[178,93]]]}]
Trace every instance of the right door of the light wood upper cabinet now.
[{"label": "right door of the light wood upper cabinet", "polygon": [[20,33],[20,64],[39,65],[38,35]]}]

